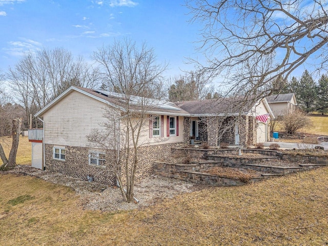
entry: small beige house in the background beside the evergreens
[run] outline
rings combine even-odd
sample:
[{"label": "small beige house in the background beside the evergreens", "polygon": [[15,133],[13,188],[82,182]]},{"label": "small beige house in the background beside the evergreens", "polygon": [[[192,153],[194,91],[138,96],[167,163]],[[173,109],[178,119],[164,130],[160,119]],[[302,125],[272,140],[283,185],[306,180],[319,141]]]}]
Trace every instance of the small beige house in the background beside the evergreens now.
[{"label": "small beige house in the background beside the evergreens", "polygon": [[270,95],[267,100],[275,116],[292,113],[297,106],[294,93]]}]

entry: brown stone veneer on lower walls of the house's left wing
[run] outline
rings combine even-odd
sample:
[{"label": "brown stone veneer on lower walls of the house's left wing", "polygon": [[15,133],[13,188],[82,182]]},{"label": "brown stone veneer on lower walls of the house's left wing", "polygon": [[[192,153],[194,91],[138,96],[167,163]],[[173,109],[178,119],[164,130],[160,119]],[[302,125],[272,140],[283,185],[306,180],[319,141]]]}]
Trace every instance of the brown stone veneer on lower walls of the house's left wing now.
[{"label": "brown stone veneer on lower walls of the house's left wing", "polygon": [[[172,147],[181,144],[182,142],[140,147],[136,181],[153,174],[153,162],[169,155]],[[47,170],[83,180],[87,180],[87,175],[89,175],[94,181],[115,185],[115,176],[110,169],[89,165],[89,148],[65,146],[65,161],[53,159],[53,145],[46,144],[45,148]]]}]

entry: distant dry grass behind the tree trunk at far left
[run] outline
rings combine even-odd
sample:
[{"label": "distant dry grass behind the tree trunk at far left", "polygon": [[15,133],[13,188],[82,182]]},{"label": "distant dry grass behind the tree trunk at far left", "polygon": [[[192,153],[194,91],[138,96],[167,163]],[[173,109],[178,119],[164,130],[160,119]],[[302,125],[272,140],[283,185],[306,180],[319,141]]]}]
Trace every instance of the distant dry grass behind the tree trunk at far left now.
[{"label": "distant dry grass behind the tree trunk at far left", "polygon": [[[5,150],[6,156],[8,158],[9,152],[11,149],[11,137],[0,137],[0,142]],[[20,135],[19,137],[19,145],[16,155],[16,163],[17,165],[31,165],[32,162],[32,145],[29,142],[27,136],[23,137]],[[0,165],[2,165],[2,160],[0,159]]]}]

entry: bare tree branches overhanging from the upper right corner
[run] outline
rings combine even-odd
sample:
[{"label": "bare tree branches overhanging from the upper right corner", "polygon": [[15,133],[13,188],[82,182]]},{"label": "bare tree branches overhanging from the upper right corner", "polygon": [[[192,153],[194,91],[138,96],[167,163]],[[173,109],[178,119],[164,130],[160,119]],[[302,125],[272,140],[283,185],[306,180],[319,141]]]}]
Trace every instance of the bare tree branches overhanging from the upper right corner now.
[{"label": "bare tree branches overhanging from the upper right corner", "polygon": [[[201,45],[210,77],[226,79],[228,92],[267,95],[275,81],[309,58],[326,66],[326,1],[187,0],[191,22],[203,25]],[[279,85],[278,85],[279,87]]]}]

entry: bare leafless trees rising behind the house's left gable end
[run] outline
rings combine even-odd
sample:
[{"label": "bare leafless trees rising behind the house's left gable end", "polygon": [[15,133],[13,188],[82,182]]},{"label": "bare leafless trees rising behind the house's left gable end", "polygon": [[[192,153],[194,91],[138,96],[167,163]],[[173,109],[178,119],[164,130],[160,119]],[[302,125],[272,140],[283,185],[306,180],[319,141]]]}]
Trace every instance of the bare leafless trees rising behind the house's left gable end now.
[{"label": "bare leafless trees rising behind the house's left gable end", "polygon": [[71,85],[95,87],[98,73],[83,58],[56,48],[25,53],[7,73],[14,96],[30,114],[35,114]]}]

